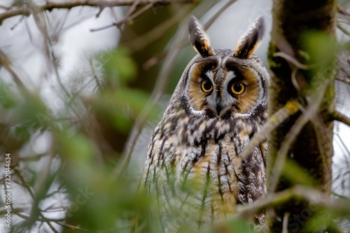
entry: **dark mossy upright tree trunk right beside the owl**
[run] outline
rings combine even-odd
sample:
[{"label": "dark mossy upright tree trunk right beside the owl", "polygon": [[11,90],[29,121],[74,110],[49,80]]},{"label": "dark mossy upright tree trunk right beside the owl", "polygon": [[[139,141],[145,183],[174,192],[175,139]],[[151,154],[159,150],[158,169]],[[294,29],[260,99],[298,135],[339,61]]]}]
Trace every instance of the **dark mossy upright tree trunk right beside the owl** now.
[{"label": "dark mossy upright tree trunk right beside the owl", "polygon": [[[310,89],[311,82],[314,82],[316,77],[310,70],[303,70],[300,67],[300,63],[307,63],[307,56],[303,52],[302,35],[308,31],[321,31],[329,36],[335,36],[336,10],[337,1],[335,0],[274,0],[272,39],[269,46],[269,68],[272,74],[269,92],[270,115],[286,105],[289,100],[297,100],[302,109],[306,109],[310,104],[305,95],[310,92],[305,90]],[[319,50],[322,49],[322,47],[319,48]],[[288,56],[276,56],[276,52]],[[331,77],[328,78],[331,79]],[[334,83],[325,82],[325,80],[322,82],[328,83],[328,87],[325,88],[320,107],[313,119],[302,127],[293,143],[290,144],[286,164],[290,161],[297,164],[311,177],[311,186],[329,196],[333,123],[327,116],[328,112],[334,109]],[[272,167],[281,149],[281,144],[290,129],[295,126],[297,119],[304,114],[301,112],[290,117],[287,122],[269,135],[269,164],[267,165],[269,193],[285,190],[295,185],[293,181],[283,176],[285,172],[276,187],[269,186],[269,182],[274,176]],[[288,219],[288,225],[286,225],[288,232],[308,232],[304,225],[315,214],[316,210],[311,208],[306,200],[289,200],[267,211],[269,231],[282,232],[284,218],[284,222]]]}]

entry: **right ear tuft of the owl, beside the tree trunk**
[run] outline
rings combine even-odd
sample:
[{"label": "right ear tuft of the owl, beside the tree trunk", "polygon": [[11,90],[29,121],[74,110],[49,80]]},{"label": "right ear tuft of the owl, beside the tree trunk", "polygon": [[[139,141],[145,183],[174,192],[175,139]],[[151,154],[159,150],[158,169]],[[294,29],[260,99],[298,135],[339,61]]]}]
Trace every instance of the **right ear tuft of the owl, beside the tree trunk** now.
[{"label": "right ear tuft of the owl, beside the tree trunk", "polygon": [[239,40],[237,43],[237,49],[233,57],[239,59],[249,59],[251,54],[258,49],[262,42],[262,37],[265,32],[265,20],[264,18],[258,17],[257,20],[252,24],[251,29],[246,35]]}]

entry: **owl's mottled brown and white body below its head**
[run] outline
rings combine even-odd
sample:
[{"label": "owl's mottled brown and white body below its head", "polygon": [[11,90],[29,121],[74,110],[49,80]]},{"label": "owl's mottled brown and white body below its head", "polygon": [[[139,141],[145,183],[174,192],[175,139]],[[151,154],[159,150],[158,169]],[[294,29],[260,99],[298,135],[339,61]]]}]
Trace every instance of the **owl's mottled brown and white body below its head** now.
[{"label": "owl's mottled brown and white body below its head", "polygon": [[188,116],[182,110],[160,122],[148,148],[143,182],[158,199],[163,230],[183,225],[203,229],[235,213],[237,204],[253,203],[265,193],[260,148],[245,160],[239,157],[267,118],[257,112],[232,121]]}]

